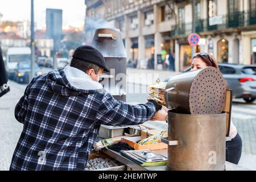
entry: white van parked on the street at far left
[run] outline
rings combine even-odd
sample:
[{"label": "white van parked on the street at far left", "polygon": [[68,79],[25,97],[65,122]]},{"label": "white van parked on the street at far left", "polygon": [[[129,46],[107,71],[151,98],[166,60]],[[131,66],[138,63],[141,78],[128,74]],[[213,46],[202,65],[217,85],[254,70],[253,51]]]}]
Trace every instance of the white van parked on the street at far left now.
[{"label": "white van parked on the street at far left", "polygon": [[30,47],[10,47],[6,53],[6,71],[9,78],[14,78],[15,68],[20,61],[31,61]]}]

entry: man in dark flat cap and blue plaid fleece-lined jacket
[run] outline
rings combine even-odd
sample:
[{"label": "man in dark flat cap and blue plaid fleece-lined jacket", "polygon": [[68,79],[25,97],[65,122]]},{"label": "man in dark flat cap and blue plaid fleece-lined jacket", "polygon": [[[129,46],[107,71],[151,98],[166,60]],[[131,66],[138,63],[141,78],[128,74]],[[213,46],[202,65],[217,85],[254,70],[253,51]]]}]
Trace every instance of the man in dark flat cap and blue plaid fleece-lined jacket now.
[{"label": "man in dark flat cap and blue plaid fleece-lined jacket", "polygon": [[164,119],[154,101],[128,105],[98,82],[109,71],[89,46],[77,48],[71,66],[34,78],[15,107],[23,131],[10,170],[84,170],[100,125],[139,125]]}]

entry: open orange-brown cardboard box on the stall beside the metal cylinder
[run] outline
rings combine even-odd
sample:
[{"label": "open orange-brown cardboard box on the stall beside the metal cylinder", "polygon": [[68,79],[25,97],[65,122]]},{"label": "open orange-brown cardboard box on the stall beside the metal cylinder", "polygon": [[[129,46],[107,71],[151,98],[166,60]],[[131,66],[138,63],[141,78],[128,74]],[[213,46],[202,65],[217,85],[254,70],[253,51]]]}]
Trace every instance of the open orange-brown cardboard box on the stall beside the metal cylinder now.
[{"label": "open orange-brown cardboard box on the stall beside the metal cylinder", "polygon": [[122,138],[122,142],[126,142],[129,144],[130,147],[133,147],[134,150],[143,150],[143,149],[150,149],[150,150],[162,150],[168,148],[168,145],[165,143],[153,143],[153,144],[144,144],[140,145],[136,143],[138,140],[141,140],[141,137],[129,137],[129,138]]}]

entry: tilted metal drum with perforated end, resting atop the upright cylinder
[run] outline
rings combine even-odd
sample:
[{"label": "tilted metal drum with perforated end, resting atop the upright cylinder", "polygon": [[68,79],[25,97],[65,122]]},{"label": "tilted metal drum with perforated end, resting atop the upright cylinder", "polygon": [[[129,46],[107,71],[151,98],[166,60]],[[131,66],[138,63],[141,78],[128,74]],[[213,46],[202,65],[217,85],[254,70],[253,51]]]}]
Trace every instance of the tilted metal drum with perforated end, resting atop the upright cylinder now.
[{"label": "tilted metal drum with perforated end, resting atop the upright cylinder", "polygon": [[227,84],[221,72],[207,67],[170,78],[165,98],[168,108],[184,114],[220,114]]}]

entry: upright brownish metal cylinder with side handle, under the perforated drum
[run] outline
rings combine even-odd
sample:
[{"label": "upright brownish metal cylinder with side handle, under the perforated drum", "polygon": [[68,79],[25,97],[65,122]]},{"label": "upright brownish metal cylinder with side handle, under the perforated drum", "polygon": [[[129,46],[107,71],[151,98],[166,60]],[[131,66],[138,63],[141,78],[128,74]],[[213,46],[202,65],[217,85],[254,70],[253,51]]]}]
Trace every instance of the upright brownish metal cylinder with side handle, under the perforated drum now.
[{"label": "upright brownish metal cylinder with side handle, under the perforated drum", "polygon": [[226,114],[168,113],[168,169],[224,171]]}]

